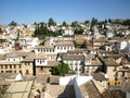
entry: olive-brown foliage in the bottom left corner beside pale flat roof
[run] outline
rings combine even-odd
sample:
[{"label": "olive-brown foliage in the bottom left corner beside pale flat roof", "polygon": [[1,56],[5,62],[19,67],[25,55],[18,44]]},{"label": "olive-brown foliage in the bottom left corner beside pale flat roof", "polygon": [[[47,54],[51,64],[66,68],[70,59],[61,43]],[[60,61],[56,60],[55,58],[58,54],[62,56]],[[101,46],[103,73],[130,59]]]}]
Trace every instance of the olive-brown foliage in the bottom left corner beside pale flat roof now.
[{"label": "olive-brown foliage in the bottom left corner beside pale flat roof", "polygon": [[11,98],[11,94],[8,93],[8,86],[1,85],[0,86],[0,98]]}]

